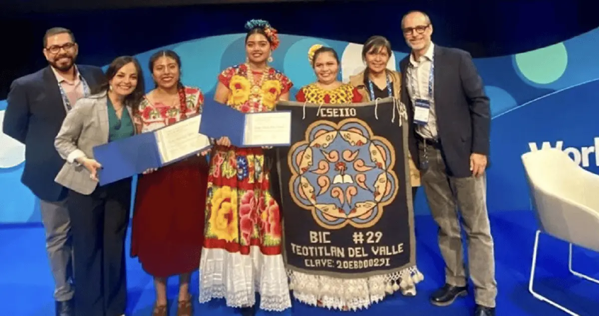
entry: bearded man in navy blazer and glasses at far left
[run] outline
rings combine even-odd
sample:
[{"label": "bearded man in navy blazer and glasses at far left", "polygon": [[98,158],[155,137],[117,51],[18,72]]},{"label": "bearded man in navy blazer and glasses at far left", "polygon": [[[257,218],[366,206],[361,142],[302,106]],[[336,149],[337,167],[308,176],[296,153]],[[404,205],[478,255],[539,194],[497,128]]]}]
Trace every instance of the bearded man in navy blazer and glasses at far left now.
[{"label": "bearded man in navy blazer and glasses at far left", "polygon": [[77,99],[89,95],[105,79],[101,68],[75,65],[78,46],[68,29],[49,29],[43,53],[49,66],[11,84],[2,131],[25,144],[21,181],[40,199],[55,279],[56,315],[71,316],[74,289],[67,190],[54,181],[65,161],[56,152],[54,139]]}]

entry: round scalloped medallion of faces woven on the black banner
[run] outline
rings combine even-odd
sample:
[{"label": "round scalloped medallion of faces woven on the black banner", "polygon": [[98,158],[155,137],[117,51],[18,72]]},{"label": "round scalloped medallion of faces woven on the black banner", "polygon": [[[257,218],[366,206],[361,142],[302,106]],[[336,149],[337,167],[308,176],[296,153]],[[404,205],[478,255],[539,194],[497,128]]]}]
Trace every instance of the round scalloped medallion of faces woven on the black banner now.
[{"label": "round scalloped medallion of faces woven on the black banner", "polygon": [[362,120],[316,121],[290,152],[291,197],[321,227],[371,227],[397,195],[394,147]]}]

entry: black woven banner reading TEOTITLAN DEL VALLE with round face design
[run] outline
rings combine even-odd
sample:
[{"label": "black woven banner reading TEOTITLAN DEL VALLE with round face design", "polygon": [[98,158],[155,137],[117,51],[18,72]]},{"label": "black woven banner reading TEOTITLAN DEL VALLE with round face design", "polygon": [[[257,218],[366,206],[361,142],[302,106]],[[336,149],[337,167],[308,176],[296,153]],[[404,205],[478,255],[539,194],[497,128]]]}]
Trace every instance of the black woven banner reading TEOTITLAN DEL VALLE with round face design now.
[{"label": "black woven banner reading TEOTITLAN DEL VALLE with round face design", "polygon": [[[347,105],[280,102],[277,110],[292,111],[292,143],[279,148],[279,176],[294,291],[351,299],[331,287],[378,277],[368,287],[380,299],[419,281],[405,108],[389,98]],[[368,296],[368,287],[356,295]]]}]

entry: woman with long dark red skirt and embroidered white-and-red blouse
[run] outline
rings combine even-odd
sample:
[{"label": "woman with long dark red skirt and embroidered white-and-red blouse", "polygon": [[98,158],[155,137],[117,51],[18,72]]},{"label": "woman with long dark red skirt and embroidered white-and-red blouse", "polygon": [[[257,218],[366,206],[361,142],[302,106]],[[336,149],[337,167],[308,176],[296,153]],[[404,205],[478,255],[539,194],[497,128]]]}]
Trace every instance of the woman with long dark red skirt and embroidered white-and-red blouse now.
[{"label": "woman with long dark red skirt and embroidered white-and-red blouse", "polygon": [[[171,50],[150,57],[156,89],[141,101],[136,123],[151,132],[201,113],[202,92],[180,82],[181,60]],[[193,156],[140,176],[135,195],[131,256],[154,277],[153,316],[167,316],[167,278],[179,275],[177,316],[191,316],[190,273],[198,269],[204,237],[208,163]]]}]

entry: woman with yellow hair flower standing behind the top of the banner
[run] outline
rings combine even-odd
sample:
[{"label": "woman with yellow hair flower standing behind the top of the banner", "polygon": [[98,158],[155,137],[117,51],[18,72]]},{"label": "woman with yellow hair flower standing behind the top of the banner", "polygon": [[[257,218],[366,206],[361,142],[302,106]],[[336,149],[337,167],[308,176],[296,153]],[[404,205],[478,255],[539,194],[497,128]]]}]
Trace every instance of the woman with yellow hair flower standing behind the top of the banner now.
[{"label": "woman with yellow hair flower standing behind the top of the banner", "polygon": [[348,104],[362,102],[362,95],[351,84],[337,80],[339,57],[330,47],[313,45],[308,58],[318,80],[299,89],[295,99],[312,104]]}]

